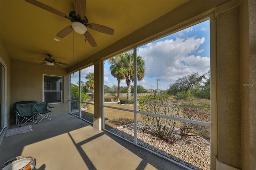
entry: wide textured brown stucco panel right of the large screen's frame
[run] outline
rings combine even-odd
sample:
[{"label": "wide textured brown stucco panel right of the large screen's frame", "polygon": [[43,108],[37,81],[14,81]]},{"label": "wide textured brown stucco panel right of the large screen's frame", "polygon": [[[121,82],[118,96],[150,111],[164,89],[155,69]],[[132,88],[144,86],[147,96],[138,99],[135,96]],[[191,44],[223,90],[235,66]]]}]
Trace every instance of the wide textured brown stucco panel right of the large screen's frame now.
[{"label": "wide textured brown stucco panel right of the large screen's frame", "polygon": [[217,18],[218,159],[240,167],[239,7]]}]

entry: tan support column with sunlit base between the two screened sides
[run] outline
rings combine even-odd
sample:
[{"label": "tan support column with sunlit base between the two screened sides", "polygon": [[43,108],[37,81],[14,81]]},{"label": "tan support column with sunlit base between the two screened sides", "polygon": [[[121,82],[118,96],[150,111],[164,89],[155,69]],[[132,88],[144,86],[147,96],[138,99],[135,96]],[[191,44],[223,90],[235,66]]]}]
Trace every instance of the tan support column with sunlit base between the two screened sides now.
[{"label": "tan support column with sunlit base between the two screened sides", "polygon": [[93,127],[103,128],[103,61],[94,62],[94,118]]}]

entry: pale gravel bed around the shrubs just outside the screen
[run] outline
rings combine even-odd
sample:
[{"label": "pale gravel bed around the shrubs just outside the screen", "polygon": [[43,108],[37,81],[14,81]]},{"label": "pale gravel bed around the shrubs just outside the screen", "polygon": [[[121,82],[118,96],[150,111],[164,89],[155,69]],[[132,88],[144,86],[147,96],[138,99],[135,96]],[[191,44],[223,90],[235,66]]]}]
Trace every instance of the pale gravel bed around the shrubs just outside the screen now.
[{"label": "pale gravel bed around the shrubs just outside the screen", "polygon": [[[138,144],[175,160],[195,170],[210,169],[210,142],[196,136],[180,136],[179,128],[175,128],[172,142],[161,140],[148,133],[148,125],[138,123]],[[133,124],[110,130],[130,141],[134,141]]]}]

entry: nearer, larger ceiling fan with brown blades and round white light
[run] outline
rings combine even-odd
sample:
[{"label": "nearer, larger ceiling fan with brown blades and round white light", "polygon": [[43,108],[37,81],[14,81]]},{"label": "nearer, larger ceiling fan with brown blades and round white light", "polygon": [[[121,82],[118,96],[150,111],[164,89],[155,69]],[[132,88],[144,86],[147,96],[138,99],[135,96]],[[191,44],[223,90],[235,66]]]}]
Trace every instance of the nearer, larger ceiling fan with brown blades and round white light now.
[{"label": "nearer, larger ceiling fan with brown blades and round white light", "polygon": [[95,42],[92,35],[88,32],[87,28],[90,28],[92,30],[96,30],[98,32],[102,32],[105,34],[109,34],[109,35],[114,34],[114,30],[112,28],[102,26],[100,24],[94,24],[94,23],[88,22],[88,19],[86,18],[86,16],[84,16],[85,9],[86,9],[86,0],[74,0],[75,10],[71,11],[69,13],[69,16],[56,10],[55,8],[52,8],[36,0],[25,0],[25,1],[35,6],[38,6],[39,8],[52,12],[56,15],[62,16],[72,22],[70,26],[67,26],[66,28],[58,32],[56,36],[60,38],[64,38],[65,36],[70,34],[73,30],[75,30],[75,32],[79,34],[84,34],[84,37],[86,38],[86,40],[88,40],[90,45],[92,45],[92,47],[96,47],[97,43]]}]

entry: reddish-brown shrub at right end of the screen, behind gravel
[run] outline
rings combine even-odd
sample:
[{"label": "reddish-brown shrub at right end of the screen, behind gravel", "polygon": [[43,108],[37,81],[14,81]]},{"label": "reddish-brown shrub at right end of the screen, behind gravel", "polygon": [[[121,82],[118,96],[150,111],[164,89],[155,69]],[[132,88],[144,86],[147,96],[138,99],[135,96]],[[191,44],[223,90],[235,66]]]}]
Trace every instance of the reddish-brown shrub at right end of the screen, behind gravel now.
[{"label": "reddish-brown shrub at right end of the screen, behind gravel", "polygon": [[[198,108],[192,107],[184,107],[182,109],[182,113],[184,118],[196,120],[196,121],[203,121],[203,122],[210,122],[210,111],[202,110]],[[185,135],[194,135],[194,136],[210,136],[210,127],[206,127],[203,125],[197,125],[188,122],[181,122],[180,124],[180,134]]]}]

